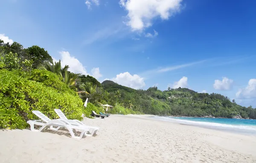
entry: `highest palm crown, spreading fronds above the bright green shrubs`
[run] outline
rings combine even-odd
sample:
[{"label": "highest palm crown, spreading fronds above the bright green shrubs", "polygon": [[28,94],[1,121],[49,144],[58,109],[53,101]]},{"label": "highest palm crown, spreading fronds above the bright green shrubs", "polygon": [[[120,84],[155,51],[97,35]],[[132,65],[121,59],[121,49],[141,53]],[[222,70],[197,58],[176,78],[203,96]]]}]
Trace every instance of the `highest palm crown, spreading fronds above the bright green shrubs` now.
[{"label": "highest palm crown, spreading fronds above the bright green shrubs", "polygon": [[67,71],[67,69],[69,69],[69,68],[70,67],[68,65],[65,65],[63,68],[61,68],[61,60],[53,63],[52,59],[50,60],[50,62],[46,62],[44,65],[43,64],[38,65],[38,69],[44,69],[47,71],[51,71],[55,74],[61,75],[61,77],[64,77],[65,71]]}]

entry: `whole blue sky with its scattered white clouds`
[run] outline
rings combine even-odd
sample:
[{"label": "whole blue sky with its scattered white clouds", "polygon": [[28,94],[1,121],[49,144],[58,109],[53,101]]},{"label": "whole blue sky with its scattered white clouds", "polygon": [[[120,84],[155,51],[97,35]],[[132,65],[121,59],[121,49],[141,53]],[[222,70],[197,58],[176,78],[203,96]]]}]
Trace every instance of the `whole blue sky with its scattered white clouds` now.
[{"label": "whole blue sky with its scattered white clouds", "polygon": [[256,107],[256,1],[0,1],[0,37],[41,46],[70,71]]}]

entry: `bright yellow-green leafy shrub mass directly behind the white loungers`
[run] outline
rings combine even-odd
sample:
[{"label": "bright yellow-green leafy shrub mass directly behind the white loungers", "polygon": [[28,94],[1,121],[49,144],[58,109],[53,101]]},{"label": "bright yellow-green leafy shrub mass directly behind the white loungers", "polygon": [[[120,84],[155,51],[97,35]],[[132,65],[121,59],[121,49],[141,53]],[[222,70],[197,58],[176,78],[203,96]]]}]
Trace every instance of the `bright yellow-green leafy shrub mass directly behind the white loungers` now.
[{"label": "bright yellow-green leafy shrub mass directly behind the white loungers", "polygon": [[27,120],[38,119],[32,110],[56,119],[54,109],[61,109],[69,119],[81,120],[83,102],[77,94],[60,93],[43,83],[19,77],[15,72],[0,70],[0,128],[26,128]]}]

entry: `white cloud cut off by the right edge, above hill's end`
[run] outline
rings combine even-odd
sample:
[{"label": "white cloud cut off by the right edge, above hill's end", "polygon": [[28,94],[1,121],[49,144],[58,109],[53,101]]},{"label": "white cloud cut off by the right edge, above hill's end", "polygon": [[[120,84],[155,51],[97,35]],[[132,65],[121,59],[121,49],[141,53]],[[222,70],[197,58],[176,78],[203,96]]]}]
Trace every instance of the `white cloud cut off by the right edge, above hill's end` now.
[{"label": "white cloud cut off by the right edge, above hill's end", "polygon": [[250,79],[248,85],[244,89],[236,92],[237,98],[256,98],[256,79]]}]

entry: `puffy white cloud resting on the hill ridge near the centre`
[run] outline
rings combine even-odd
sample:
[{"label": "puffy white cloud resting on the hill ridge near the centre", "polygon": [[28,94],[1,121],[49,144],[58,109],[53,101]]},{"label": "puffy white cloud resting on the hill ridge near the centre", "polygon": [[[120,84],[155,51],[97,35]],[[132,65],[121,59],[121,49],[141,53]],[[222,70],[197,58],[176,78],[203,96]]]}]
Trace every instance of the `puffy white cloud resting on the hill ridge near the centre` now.
[{"label": "puffy white cloud resting on the hill ridge near the centre", "polygon": [[142,89],[145,86],[143,77],[137,74],[131,75],[129,72],[120,73],[115,78],[112,78],[112,80],[120,85],[133,89]]}]

